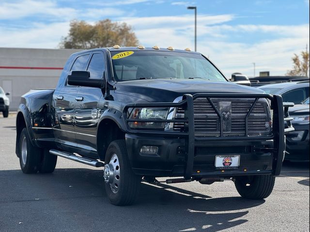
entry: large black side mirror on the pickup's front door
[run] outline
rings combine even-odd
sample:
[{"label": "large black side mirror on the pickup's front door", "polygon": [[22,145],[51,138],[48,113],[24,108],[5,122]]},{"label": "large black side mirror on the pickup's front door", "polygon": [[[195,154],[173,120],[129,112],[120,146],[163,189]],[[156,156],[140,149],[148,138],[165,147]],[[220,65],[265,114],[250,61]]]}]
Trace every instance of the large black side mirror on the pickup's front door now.
[{"label": "large black side mirror on the pickup's front door", "polygon": [[68,85],[84,87],[105,87],[104,79],[91,79],[89,71],[71,71],[67,77]]}]

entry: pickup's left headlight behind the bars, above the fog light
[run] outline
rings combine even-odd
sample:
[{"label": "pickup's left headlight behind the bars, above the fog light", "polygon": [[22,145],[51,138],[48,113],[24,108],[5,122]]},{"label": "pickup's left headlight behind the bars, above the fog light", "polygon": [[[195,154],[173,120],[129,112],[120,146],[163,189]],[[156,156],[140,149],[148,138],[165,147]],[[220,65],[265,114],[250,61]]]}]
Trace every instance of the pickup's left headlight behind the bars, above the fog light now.
[{"label": "pickup's left headlight behind the bars, above the fog light", "polygon": [[[129,119],[166,119],[169,108],[131,108],[128,109]],[[132,129],[164,129],[165,122],[128,122]]]}]

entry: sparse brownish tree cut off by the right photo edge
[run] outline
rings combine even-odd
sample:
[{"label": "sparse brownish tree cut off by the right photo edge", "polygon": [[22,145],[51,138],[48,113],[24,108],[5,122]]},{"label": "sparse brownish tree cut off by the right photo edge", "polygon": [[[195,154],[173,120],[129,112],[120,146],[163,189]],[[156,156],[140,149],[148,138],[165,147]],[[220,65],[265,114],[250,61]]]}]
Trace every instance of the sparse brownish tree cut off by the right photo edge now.
[{"label": "sparse brownish tree cut off by the right photo edge", "polygon": [[309,52],[306,48],[306,51],[302,51],[300,58],[298,55],[294,54],[292,58],[294,66],[292,70],[287,71],[287,76],[309,76]]}]

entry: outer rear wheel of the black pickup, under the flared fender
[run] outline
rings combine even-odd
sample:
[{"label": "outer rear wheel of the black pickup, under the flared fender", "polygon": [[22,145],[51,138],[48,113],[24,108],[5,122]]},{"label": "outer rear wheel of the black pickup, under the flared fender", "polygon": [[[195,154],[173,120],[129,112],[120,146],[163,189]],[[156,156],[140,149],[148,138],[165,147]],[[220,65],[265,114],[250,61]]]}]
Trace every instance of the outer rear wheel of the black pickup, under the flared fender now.
[{"label": "outer rear wheel of the black pickup, under the flared fender", "polygon": [[[42,149],[31,144],[28,131],[24,128],[19,136],[18,157],[20,168],[25,174],[38,172],[38,164],[42,155]],[[26,151],[26,155],[25,154]]]}]

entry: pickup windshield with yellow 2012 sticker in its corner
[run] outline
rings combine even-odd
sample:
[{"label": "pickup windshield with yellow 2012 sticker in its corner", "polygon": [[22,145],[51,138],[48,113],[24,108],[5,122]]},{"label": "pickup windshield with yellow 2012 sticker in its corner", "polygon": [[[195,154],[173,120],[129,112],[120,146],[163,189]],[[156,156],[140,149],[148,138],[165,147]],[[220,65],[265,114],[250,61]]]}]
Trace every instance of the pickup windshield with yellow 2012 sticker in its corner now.
[{"label": "pickup windshield with yellow 2012 sticker in its corner", "polygon": [[227,81],[202,55],[166,51],[111,52],[115,81],[139,79],[204,79]]}]

